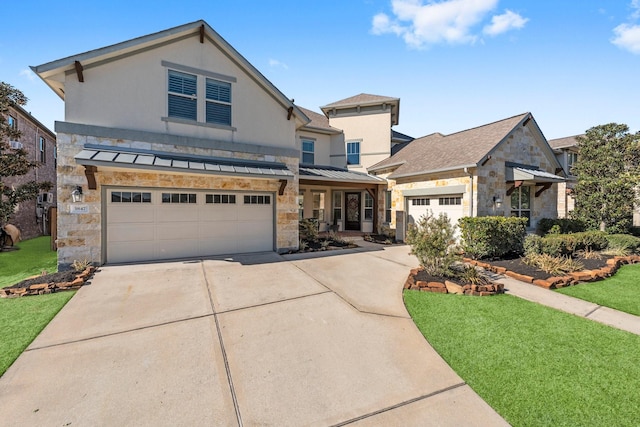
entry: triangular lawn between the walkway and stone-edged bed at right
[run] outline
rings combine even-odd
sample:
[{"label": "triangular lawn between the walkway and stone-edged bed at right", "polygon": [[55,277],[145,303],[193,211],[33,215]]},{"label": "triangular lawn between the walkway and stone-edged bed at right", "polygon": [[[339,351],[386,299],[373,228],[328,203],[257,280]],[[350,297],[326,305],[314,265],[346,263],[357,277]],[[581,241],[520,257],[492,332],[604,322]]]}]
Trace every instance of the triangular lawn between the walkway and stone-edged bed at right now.
[{"label": "triangular lawn between the walkway and stone-edged bed at right", "polygon": [[625,265],[601,282],[569,286],[556,292],[640,316],[640,264]]}]

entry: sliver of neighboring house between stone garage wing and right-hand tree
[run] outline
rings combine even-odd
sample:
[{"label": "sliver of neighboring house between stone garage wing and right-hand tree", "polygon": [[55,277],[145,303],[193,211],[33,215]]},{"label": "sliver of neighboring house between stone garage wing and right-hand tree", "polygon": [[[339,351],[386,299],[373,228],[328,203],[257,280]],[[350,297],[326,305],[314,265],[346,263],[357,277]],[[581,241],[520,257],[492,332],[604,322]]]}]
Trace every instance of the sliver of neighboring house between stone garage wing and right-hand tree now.
[{"label": "sliver of neighboring house between stone garage wing and right-hand tree", "polygon": [[578,136],[584,135],[549,140],[549,145],[553,148],[553,152],[567,177],[566,182],[558,183],[558,218],[567,218],[576,203],[573,188],[578,181],[571,169],[578,161],[578,140],[576,139]]}]

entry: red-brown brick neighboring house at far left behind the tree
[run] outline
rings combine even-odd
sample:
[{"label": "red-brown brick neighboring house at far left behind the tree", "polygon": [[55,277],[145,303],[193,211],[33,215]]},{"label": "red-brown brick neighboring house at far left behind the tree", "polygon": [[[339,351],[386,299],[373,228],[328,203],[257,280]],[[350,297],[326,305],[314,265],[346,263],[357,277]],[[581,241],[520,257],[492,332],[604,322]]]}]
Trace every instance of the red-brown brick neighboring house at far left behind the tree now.
[{"label": "red-brown brick neighboring house at far left behind the tree", "polygon": [[56,204],[56,135],[19,105],[9,107],[6,119],[10,126],[22,133],[20,138],[9,141],[10,146],[26,150],[29,159],[39,162],[40,166],[26,175],[5,178],[4,184],[49,181],[53,185],[51,193],[20,203],[10,223],[20,229],[23,239],[50,234],[48,210]]}]

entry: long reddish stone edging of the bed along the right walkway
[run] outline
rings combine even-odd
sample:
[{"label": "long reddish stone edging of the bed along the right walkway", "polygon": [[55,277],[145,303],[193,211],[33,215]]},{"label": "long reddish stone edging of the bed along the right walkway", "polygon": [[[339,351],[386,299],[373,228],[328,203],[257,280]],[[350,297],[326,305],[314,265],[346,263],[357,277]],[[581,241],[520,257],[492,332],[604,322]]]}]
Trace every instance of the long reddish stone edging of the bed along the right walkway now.
[{"label": "long reddish stone edging of the bed along the right walkway", "polygon": [[602,280],[606,277],[612,276],[622,265],[640,263],[640,255],[630,255],[625,257],[616,256],[608,259],[607,265],[598,270],[576,271],[565,276],[550,276],[546,279],[534,279],[531,276],[518,274],[516,272],[507,270],[504,267],[493,266],[490,263],[476,261],[469,258],[465,258],[464,262],[475,265],[477,267],[482,267],[485,270],[489,270],[497,274],[504,274],[505,276],[509,276],[521,282],[532,283],[545,289],[559,289],[571,285],[576,285],[578,283],[595,282],[597,280]]}]

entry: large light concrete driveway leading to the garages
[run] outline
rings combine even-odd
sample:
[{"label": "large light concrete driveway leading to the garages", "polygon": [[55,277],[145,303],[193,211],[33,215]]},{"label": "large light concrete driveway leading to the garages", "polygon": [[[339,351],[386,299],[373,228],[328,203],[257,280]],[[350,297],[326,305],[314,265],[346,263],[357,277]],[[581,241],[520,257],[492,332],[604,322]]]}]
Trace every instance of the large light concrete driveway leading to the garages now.
[{"label": "large light concrete driveway leading to the garages", "polygon": [[405,246],[106,266],[0,378],[3,425],[507,425],[402,303]]}]

